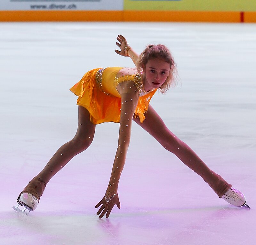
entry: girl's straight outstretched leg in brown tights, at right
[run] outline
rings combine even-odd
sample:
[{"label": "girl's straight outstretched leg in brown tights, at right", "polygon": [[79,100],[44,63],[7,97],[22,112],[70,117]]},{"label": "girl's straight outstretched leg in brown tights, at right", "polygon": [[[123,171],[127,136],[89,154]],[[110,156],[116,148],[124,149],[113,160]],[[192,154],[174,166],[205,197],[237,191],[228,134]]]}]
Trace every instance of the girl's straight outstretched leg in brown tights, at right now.
[{"label": "girl's straight outstretched leg in brown tights, at right", "polygon": [[220,198],[232,186],[207,167],[188,145],[175,136],[150,105],[143,123],[140,123],[139,118],[133,120],[151,134],[166,150],[175,154],[183,163],[200,175]]}]

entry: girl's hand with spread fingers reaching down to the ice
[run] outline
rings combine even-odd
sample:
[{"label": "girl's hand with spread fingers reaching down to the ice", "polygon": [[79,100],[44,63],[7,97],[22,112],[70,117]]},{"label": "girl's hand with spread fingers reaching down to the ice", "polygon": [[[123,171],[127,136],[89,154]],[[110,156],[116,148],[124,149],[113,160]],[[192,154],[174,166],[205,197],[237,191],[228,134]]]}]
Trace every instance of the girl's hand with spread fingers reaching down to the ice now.
[{"label": "girl's hand with spread fingers reaching down to the ice", "polygon": [[108,218],[108,216],[115,204],[120,209],[120,201],[119,201],[118,193],[113,198],[110,198],[110,200],[108,200],[108,199],[109,198],[106,197],[106,195],[105,195],[102,198],[102,200],[95,206],[95,208],[98,208],[102,204],[99,211],[97,212],[97,215],[100,215],[99,216],[100,219],[105,215],[105,213],[107,213],[106,218]]}]

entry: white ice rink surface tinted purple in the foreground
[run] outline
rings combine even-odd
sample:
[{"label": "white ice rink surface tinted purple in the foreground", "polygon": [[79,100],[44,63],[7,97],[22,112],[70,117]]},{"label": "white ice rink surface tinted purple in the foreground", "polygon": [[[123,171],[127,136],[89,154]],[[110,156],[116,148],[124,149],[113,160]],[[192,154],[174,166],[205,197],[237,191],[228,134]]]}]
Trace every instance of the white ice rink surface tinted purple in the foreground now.
[{"label": "white ice rink surface tinted purple in the foreground", "polygon": [[[193,23],[0,23],[1,245],[238,245],[256,234],[256,25]],[[167,45],[180,85],[151,105],[215,172],[244,192],[234,207],[136,123],[119,184],[121,209],[98,219],[116,123],[47,185],[34,212],[12,210],[54,152],[75,134],[69,91],[96,67],[133,66],[116,55],[117,34],[139,53]]]}]

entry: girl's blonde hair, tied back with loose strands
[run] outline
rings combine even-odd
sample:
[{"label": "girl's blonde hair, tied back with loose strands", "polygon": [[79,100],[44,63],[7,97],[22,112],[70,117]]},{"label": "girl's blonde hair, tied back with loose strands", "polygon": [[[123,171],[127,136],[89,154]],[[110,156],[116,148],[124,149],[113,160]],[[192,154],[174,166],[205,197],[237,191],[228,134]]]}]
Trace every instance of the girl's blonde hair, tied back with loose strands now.
[{"label": "girl's blonde hair, tied back with loose strands", "polygon": [[170,64],[170,67],[171,67],[170,74],[166,78],[164,84],[159,87],[159,91],[161,93],[166,93],[166,91],[170,87],[174,87],[176,85],[176,76],[177,76],[176,64],[174,63],[171,52],[166,46],[164,46],[163,44],[158,44],[158,45],[149,44],[148,46],[146,46],[145,50],[140,54],[139,59],[137,61],[137,65],[136,65],[137,71],[139,72],[143,70],[142,67],[146,66],[146,64],[148,63],[148,60],[154,59],[154,58],[162,59]]}]

